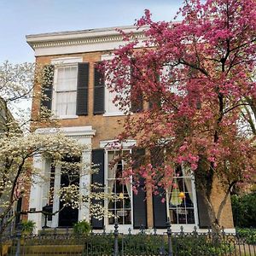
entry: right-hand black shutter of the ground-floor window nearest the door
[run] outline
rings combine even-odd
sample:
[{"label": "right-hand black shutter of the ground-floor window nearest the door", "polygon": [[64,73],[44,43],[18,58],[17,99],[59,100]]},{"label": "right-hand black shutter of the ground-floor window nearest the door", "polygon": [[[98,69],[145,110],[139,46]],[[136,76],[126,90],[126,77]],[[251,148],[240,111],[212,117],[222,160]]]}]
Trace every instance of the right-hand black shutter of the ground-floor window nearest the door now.
[{"label": "right-hand black shutter of the ground-floor window nearest the door", "polygon": [[[137,149],[133,153],[133,159],[135,161],[134,168],[138,168],[143,164],[143,158],[145,155],[145,149]],[[137,194],[133,192],[133,227],[134,229],[139,229],[142,225],[143,227],[148,227],[147,221],[147,193],[144,189],[144,179],[140,179],[140,185],[137,188]]]}]

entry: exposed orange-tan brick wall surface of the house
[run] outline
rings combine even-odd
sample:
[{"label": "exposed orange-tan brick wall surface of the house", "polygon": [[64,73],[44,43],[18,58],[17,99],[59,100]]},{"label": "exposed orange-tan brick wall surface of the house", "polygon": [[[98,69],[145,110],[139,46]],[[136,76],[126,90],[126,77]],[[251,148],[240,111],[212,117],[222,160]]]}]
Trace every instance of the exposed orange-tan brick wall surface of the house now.
[{"label": "exposed orange-tan brick wall surface of the house", "polygon": [[[93,53],[84,53],[84,54],[75,54],[68,55],[72,57],[82,57],[84,62],[90,62],[90,79],[89,79],[89,105],[88,105],[88,115],[87,116],[79,116],[77,119],[61,119],[59,124],[61,127],[68,126],[85,126],[92,125],[92,128],[96,130],[96,136],[92,138],[92,147],[99,148],[100,141],[104,140],[113,140],[120,131],[123,129],[124,116],[113,116],[106,117],[102,114],[93,114],[93,93],[94,93],[94,63],[97,61],[101,61],[101,56],[107,54],[108,52],[93,52]],[[50,60],[53,58],[61,58],[67,55],[52,55],[52,56],[40,56],[37,58],[37,63],[39,65],[49,64]],[[34,92],[40,92],[41,87],[40,84],[35,86]],[[32,102],[32,118],[36,117],[39,111],[40,101],[38,99],[34,99]],[[148,209],[148,227],[153,226],[153,207],[152,207],[152,197],[151,193],[148,190],[148,201],[147,201],[147,209]],[[218,207],[221,201],[224,199],[224,190],[221,187],[220,183],[218,183],[218,179],[215,178],[212,189],[212,202],[214,204],[215,211],[218,212]],[[224,206],[224,210],[221,216],[220,224],[224,226],[224,228],[233,228],[233,218],[232,211],[230,205],[230,197],[227,199],[227,202]]]}]

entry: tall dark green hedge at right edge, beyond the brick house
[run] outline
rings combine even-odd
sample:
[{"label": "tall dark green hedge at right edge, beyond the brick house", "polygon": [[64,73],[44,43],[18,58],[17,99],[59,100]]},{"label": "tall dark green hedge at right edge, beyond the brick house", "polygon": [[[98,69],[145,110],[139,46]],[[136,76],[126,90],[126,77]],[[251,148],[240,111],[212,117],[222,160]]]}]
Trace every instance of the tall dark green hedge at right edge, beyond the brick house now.
[{"label": "tall dark green hedge at right edge, beyond the brick house", "polygon": [[232,195],[232,212],[236,227],[256,227],[256,192],[246,195]]}]

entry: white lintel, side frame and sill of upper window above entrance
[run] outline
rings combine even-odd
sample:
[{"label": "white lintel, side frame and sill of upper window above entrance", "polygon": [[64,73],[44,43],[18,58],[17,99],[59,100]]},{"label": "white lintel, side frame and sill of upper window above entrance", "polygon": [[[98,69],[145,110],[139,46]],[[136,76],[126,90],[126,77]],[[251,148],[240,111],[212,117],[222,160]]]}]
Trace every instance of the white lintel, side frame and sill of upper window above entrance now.
[{"label": "white lintel, side frame and sill of upper window above entrance", "polygon": [[64,58],[57,58],[51,60],[51,64],[54,65],[55,73],[54,73],[54,84],[53,84],[53,92],[52,92],[52,112],[54,113],[53,119],[77,119],[79,118],[78,115],[59,115],[57,116],[56,113],[56,84],[57,84],[57,77],[58,77],[58,68],[59,67],[75,67],[78,65],[79,62],[82,62],[83,58],[81,57],[64,57]]}]

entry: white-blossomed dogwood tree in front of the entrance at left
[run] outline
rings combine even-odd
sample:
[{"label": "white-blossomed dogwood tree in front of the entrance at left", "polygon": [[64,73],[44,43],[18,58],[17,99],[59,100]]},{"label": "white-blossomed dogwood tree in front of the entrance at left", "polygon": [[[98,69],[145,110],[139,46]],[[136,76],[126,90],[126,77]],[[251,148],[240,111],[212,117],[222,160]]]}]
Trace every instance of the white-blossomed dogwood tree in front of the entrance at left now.
[{"label": "white-blossomed dogwood tree in front of the entrance at left", "polygon": [[[97,201],[107,197],[118,200],[113,195],[106,195],[104,189],[97,188],[96,184],[93,189],[90,184],[83,188],[88,189],[88,193],[81,195],[79,183],[76,182],[79,175],[96,172],[96,168],[88,168],[76,161],[86,149],[84,146],[58,132],[50,135],[32,132],[43,121],[44,124],[53,123],[45,112],[38,116],[38,122],[38,119],[30,119],[30,113],[24,110],[24,106],[31,101],[33,84],[42,79],[40,69],[37,67],[35,73],[34,65],[29,63],[12,65],[6,61],[0,65],[0,235],[16,216],[29,213],[28,210],[15,212],[13,209],[20,198],[28,195],[30,187],[37,180],[35,177],[40,176],[41,181],[50,182],[49,173],[44,177],[42,170],[33,166],[33,157],[37,155],[51,160],[52,165],[61,166],[61,174],[67,175],[68,183],[58,191],[63,207],[78,208],[81,204],[89,207],[92,199]],[[54,124],[57,125],[56,122]],[[101,204],[95,204],[90,206],[90,214],[102,218],[108,212]]]}]

